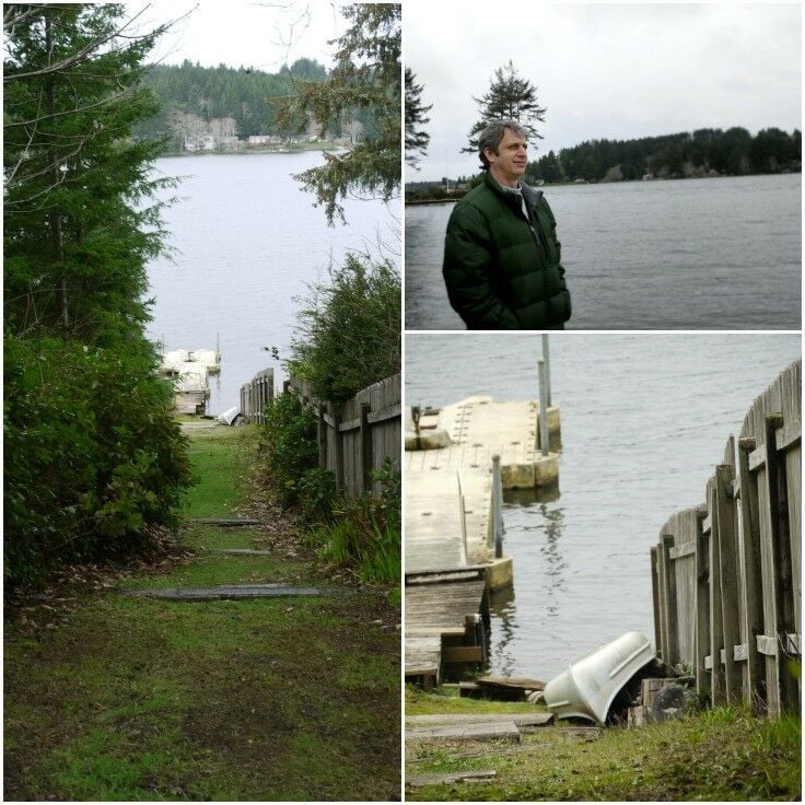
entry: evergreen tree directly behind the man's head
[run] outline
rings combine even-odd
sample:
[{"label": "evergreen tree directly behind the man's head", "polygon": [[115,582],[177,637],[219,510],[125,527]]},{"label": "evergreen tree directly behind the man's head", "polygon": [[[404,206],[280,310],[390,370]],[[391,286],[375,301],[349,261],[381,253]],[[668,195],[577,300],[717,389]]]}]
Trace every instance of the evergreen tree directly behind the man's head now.
[{"label": "evergreen tree directly behind the man's head", "polygon": [[525,129],[528,139],[542,139],[536,128],[537,122],[545,121],[547,108],[537,102],[537,88],[527,79],[517,74],[514,63],[499,67],[494,71],[489,92],[482,97],[472,96],[481,114],[480,120],[469,132],[469,145],[462,152],[478,152],[478,135],[490,120],[517,120]]}]

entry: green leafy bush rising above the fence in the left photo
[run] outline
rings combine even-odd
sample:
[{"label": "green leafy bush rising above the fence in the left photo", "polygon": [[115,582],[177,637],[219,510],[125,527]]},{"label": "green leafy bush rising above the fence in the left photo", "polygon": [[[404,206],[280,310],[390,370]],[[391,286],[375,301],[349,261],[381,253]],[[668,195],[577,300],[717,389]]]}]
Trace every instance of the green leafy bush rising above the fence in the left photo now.
[{"label": "green leafy bush rising above the fence in the left photo", "polygon": [[400,369],[399,273],[388,260],[351,254],[312,287],[296,316],[287,369],[322,399],[342,402]]}]

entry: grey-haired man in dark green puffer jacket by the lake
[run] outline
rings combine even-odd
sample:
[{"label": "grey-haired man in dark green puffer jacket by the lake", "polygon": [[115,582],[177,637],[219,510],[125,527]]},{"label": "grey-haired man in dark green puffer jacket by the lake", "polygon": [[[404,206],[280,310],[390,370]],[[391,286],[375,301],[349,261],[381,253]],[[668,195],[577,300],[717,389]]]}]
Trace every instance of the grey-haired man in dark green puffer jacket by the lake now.
[{"label": "grey-haired man in dark green puffer jacket by the lake", "polygon": [[447,223],[444,281],[467,329],[560,330],[570,318],[553,213],[521,180],[527,148],[516,120],[490,122],[478,137],[483,182]]}]

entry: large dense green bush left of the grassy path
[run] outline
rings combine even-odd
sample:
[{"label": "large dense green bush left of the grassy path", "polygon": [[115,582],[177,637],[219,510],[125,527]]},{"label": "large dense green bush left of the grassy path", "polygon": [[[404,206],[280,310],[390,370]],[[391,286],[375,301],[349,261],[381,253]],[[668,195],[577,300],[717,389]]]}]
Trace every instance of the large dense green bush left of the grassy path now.
[{"label": "large dense green bush left of the grassy path", "polygon": [[4,339],[4,576],[119,556],[173,525],[191,482],[172,389],[144,345]]}]

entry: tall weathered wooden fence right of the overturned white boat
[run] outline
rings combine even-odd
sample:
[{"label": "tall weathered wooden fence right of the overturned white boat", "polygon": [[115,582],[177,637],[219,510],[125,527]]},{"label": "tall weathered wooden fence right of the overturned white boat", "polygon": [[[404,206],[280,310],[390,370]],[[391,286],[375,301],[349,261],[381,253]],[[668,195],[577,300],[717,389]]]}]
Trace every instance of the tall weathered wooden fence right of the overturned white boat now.
[{"label": "tall weathered wooden fence right of the overturned white boat", "polygon": [[727,440],[704,503],[673,515],[651,549],[660,656],[711,701],[769,715],[802,700],[801,433],[797,361]]}]

